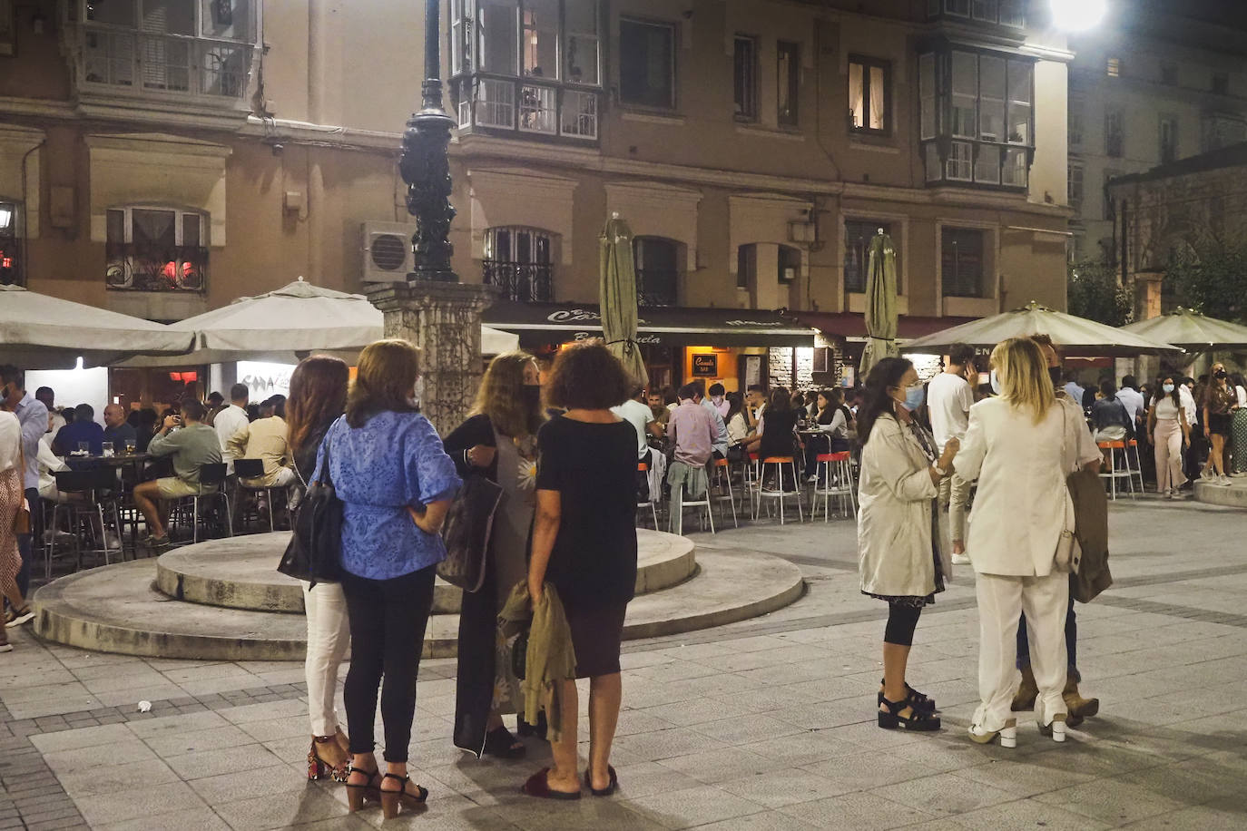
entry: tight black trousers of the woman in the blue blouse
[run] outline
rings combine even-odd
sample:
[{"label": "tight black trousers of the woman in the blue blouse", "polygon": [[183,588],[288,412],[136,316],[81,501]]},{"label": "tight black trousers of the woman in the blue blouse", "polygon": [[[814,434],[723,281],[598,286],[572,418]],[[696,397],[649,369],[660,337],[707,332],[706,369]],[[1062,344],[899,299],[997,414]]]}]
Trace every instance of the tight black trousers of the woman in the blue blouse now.
[{"label": "tight black trousers of the woman in the blue blouse", "polygon": [[388,581],[342,574],[350,617],[350,669],[343,695],[350,753],[373,751],[377,688],[380,686],[385,761],[407,761],[415,715],[415,678],[433,609],[434,577],[433,566]]}]

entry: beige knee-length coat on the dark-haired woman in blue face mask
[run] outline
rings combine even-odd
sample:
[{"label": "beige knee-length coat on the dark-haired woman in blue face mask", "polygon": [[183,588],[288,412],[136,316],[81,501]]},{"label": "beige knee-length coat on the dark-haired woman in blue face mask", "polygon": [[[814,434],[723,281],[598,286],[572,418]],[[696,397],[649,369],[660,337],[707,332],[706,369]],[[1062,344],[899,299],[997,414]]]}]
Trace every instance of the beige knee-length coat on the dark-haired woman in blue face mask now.
[{"label": "beige knee-length coat on the dark-haired woman in blue face mask", "polygon": [[945,578],[953,573],[941,522],[932,541],[932,500],[936,487],[930,461],[908,427],[892,414],[879,416],[862,447],[858,483],[858,563],[862,591],[894,597],[925,597],[935,591],[938,547]]}]

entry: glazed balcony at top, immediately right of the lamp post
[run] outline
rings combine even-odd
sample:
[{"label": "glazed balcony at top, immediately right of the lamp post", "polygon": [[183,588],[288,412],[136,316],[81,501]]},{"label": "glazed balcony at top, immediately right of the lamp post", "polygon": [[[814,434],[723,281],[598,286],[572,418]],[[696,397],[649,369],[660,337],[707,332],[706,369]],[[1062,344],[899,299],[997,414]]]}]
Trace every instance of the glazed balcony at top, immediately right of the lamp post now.
[{"label": "glazed balcony at top, immediately right of the lamp post", "polygon": [[463,132],[596,142],[597,4],[453,0],[450,93]]}]

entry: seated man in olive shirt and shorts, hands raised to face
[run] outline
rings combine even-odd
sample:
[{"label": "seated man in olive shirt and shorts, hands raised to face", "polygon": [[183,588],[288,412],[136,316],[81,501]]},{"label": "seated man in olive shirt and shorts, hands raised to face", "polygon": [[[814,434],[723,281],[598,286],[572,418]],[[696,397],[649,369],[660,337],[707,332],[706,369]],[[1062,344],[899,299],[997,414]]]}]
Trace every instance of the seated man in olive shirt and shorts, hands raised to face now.
[{"label": "seated man in olive shirt and shorts, hands raised to face", "polygon": [[166,416],[160,432],[152,436],[147,452],[172,456],[173,476],[135,486],[135,506],[147,521],[148,546],[168,544],[165,529],[166,500],[196,496],[200,492],[200,468],[221,462],[221,440],[203,424],[206,409],[200,401],[182,404],[182,415]]}]

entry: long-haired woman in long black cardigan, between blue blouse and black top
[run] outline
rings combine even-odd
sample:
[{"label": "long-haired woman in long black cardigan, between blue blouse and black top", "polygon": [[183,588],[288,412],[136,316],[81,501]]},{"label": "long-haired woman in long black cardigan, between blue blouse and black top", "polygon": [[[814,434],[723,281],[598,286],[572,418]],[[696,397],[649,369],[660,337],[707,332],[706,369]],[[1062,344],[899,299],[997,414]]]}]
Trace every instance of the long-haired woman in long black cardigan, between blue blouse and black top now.
[{"label": "long-haired woman in long black cardigan, between blue blouse and black top", "polygon": [[459,674],[455,746],[481,756],[519,759],[524,744],[503,725],[503,714],[522,705],[519,681],[495,654],[498,613],[511,588],[527,577],[527,541],[536,498],[536,435],[541,412],[541,374],[525,351],[499,355],[489,364],[476,405],[445,439],[459,475],[489,477],[503,500],[485,558],[485,583],[465,592],[459,614]]}]

